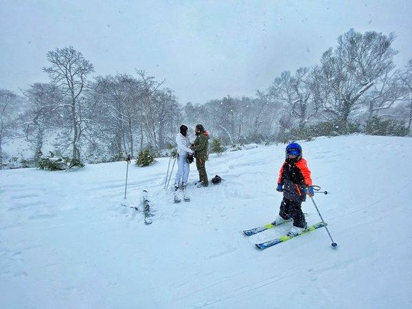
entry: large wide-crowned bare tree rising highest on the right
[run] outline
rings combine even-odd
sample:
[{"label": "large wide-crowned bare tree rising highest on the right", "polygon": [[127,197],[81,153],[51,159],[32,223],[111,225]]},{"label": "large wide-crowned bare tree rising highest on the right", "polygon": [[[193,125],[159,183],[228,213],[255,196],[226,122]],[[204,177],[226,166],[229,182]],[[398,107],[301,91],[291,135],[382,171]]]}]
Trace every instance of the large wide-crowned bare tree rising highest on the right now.
[{"label": "large wide-crowned bare tree rising highest on the right", "polygon": [[361,34],[351,29],[339,36],[336,48],[328,49],[321,65],[314,67],[313,76],[320,87],[315,100],[323,102],[323,112],[339,119],[345,132],[350,114],[361,104],[361,96],[393,69],[394,39],[392,33]]}]

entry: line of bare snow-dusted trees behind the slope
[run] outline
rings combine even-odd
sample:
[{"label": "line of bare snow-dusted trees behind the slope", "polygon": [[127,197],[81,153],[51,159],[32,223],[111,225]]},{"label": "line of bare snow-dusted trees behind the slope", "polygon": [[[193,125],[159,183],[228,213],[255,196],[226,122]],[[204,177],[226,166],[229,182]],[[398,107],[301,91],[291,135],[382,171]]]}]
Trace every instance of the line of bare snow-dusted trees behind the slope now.
[{"label": "line of bare snow-dusted trees behind the slope", "polygon": [[50,138],[72,159],[115,161],[173,144],[182,123],[202,123],[231,145],[352,132],[411,135],[412,59],[396,67],[395,39],[351,29],[319,63],[283,71],[253,98],[183,106],[165,80],[138,69],[91,76],[93,64],[81,52],[57,48],[43,68],[49,82],[34,82],[21,95],[0,89],[0,167],[2,143],[16,137],[32,146],[34,164]]}]

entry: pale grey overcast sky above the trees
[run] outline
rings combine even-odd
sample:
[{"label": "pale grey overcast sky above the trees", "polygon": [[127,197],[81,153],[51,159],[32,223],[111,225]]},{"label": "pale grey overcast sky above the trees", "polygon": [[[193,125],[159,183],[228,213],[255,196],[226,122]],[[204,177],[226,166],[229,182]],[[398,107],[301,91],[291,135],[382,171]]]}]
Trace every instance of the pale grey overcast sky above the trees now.
[{"label": "pale grey overcast sky above the trees", "polygon": [[284,70],[314,65],[351,27],[398,38],[412,58],[412,1],[0,0],[0,88],[47,82],[47,51],[72,45],[93,76],[144,69],[179,102],[254,95]]}]

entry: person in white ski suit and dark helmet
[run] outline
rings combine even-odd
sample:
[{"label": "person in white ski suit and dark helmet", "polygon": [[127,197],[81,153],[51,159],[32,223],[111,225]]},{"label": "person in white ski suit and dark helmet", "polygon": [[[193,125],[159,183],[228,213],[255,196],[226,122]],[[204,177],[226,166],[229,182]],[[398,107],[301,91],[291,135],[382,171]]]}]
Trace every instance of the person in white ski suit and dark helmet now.
[{"label": "person in white ski suit and dark helmet", "polygon": [[176,135],[177,145],[177,172],[174,177],[174,187],[179,185],[186,185],[187,179],[189,179],[190,164],[186,161],[188,153],[192,154],[193,150],[190,149],[190,140],[187,137],[187,126],[181,126],[180,132]]}]

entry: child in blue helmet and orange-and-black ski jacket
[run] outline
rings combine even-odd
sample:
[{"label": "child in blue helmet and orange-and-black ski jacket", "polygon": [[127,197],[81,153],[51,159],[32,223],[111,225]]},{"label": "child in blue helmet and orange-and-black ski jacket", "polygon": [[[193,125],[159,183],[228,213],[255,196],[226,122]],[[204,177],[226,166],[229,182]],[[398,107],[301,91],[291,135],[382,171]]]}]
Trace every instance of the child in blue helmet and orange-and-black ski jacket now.
[{"label": "child in blue helmet and orange-and-black ski jacket", "polygon": [[313,196],[312,179],[306,160],[302,158],[302,148],[297,143],[286,146],[286,159],[279,172],[276,191],[283,192],[284,198],[280,204],[279,216],[272,222],[279,225],[285,220],[293,220],[293,227],[288,236],[296,236],[308,226],[301,203],[306,201],[307,194]]}]

